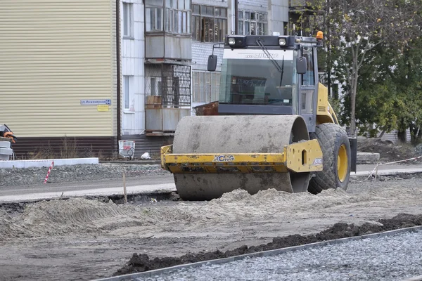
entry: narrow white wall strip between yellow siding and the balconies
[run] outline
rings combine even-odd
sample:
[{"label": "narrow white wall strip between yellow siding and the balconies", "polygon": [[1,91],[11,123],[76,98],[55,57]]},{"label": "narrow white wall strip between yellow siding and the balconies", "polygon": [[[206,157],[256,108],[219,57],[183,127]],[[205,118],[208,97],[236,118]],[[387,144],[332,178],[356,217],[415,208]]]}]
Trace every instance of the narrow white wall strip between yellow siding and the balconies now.
[{"label": "narrow white wall strip between yellow siding and the balconies", "polygon": [[[123,2],[132,4],[132,36],[124,37]],[[120,5],[122,34],[122,135],[134,135],[145,130],[145,21],[142,0],[124,0]],[[124,77],[129,77],[129,109],[124,108]]]}]

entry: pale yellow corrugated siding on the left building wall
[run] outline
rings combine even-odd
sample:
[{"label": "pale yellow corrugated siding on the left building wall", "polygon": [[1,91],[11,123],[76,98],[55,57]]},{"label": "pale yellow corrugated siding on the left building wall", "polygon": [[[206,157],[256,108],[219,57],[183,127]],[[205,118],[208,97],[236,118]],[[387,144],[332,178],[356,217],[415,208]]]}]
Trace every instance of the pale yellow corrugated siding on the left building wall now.
[{"label": "pale yellow corrugated siding on the left building wall", "polygon": [[[0,1],[0,122],[20,137],[113,136],[110,0]],[[113,100],[108,112],[80,100]]]}]

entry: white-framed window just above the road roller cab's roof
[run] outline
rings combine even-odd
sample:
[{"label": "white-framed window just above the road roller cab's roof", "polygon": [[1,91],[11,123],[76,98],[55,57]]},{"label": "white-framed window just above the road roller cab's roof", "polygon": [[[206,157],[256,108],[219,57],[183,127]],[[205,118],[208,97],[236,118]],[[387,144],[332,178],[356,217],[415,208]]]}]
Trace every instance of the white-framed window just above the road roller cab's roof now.
[{"label": "white-framed window just above the road roller cab's roof", "polygon": [[266,35],[268,30],[267,13],[253,11],[238,12],[238,34]]}]

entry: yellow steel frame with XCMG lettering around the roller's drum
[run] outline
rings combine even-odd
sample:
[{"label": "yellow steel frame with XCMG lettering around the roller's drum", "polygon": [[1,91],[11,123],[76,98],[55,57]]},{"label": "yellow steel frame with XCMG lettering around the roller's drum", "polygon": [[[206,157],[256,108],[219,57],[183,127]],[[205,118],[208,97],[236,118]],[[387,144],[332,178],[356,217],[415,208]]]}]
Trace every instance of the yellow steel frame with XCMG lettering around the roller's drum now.
[{"label": "yellow steel frame with XCMG lettering around the roller's drum", "polygon": [[285,145],[282,153],[175,154],[172,148],[173,145],[161,148],[161,166],[173,174],[300,173],[323,169],[322,151],[316,140]]}]

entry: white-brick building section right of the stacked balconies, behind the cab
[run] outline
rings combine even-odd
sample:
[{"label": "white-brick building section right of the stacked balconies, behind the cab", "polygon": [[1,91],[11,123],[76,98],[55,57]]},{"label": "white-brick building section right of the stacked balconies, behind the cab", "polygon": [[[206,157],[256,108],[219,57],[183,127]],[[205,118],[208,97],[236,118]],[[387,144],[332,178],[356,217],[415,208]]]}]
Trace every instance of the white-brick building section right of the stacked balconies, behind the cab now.
[{"label": "white-brick building section right of the stacked balconies, behind the cab", "polygon": [[[221,61],[217,72],[207,72],[207,57],[226,34],[286,34],[288,0],[209,1],[192,3],[192,105],[218,100]],[[222,50],[215,53],[222,58]]]}]

